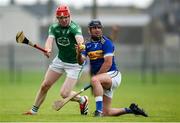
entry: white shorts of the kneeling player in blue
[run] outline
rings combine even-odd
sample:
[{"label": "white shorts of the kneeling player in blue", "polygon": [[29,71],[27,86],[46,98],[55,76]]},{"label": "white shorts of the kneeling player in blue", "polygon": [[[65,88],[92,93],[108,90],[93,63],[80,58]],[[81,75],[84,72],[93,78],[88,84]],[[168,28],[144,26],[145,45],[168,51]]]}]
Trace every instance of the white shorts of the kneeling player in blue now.
[{"label": "white shorts of the kneeling player in blue", "polygon": [[116,89],[121,83],[121,73],[119,71],[110,71],[107,72],[107,74],[112,78],[112,86],[108,90],[104,89],[104,95],[112,98],[114,89]]}]

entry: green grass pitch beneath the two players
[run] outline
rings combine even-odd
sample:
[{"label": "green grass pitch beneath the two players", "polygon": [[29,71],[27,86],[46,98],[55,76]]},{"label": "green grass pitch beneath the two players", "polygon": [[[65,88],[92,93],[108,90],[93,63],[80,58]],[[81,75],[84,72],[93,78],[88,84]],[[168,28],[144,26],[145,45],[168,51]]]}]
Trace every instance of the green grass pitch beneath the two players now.
[{"label": "green grass pitch beneath the two players", "polygon": [[[22,73],[22,76],[16,75],[14,81],[8,72],[0,74],[0,122],[180,122],[179,73],[158,73],[156,83],[151,82],[150,74],[147,82],[143,83],[139,73],[123,73],[121,86],[114,93],[112,107],[128,107],[131,102],[136,102],[148,112],[148,118],[134,115],[95,118],[92,114],[95,110],[94,97],[90,90],[83,93],[90,99],[90,113],[87,116],[79,114],[79,105],[75,102],[68,103],[56,112],[51,104],[59,96],[63,79],[50,89],[38,115],[25,116],[22,113],[31,108],[44,73]],[[75,90],[82,88],[86,84],[83,82],[87,81],[88,77],[83,75]]]}]

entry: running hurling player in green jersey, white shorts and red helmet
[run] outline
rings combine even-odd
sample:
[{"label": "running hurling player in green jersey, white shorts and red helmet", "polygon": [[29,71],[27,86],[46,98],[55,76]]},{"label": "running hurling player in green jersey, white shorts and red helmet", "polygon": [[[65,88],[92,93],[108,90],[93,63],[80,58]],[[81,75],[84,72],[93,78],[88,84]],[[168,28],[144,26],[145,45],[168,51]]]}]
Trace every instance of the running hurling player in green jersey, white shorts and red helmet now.
[{"label": "running hurling player in green jersey, white shorts and red helmet", "polygon": [[[24,113],[26,115],[37,114],[38,109],[46,98],[50,87],[66,73],[66,78],[60,89],[60,96],[66,98],[75,92],[72,91],[77,83],[79,73],[82,66],[77,63],[75,44],[84,43],[81,28],[78,24],[71,20],[70,10],[67,5],[60,5],[56,9],[57,22],[49,27],[49,36],[45,43],[47,53],[50,57],[53,42],[58,47],[58,54],[49,65],[44,80],[39,88],[35,102],[32,108]],[[82,115],[88,113],[88,97],[78,95],[72,101],[76,101],[80,105]]]}]

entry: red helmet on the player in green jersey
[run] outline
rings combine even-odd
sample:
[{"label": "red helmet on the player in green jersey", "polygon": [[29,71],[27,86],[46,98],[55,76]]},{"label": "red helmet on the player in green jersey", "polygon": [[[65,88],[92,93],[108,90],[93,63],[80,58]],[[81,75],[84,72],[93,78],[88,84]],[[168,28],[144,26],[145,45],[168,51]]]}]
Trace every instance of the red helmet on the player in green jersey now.
[{"label": "red helmet on the player in green jersey", "polygon": [[70,9],[67,5],[60,5],[56,9],[56,17],[69,17],[70,16]]}]

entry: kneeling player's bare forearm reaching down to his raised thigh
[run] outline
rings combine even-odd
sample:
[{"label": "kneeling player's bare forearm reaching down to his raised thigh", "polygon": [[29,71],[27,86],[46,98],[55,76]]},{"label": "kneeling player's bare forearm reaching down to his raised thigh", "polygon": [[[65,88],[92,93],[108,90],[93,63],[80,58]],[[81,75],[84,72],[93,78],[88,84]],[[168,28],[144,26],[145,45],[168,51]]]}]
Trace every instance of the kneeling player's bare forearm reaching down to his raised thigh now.
[{"label": "kneeling player's bare forearm reaching down to his raised thigh", "polygon": [[97,72],[97,74],[106,73],[112,66],[112,59],[113,56],[105,56],[104,63],[102,64],[101,68]]}]

